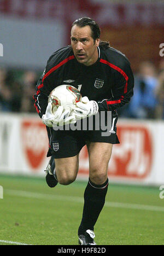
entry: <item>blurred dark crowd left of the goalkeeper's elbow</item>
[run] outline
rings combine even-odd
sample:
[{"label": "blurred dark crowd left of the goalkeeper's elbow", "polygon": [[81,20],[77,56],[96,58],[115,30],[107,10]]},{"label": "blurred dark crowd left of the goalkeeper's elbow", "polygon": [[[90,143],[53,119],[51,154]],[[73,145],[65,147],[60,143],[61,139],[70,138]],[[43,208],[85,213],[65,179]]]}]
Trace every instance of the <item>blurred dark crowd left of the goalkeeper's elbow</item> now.
[{"label": "blurred dark crowd left of the goalkeeper's elbow", "polygon": [[36,112],[32,96],[36,93],[38,74],[0,67],[0,112]]}]

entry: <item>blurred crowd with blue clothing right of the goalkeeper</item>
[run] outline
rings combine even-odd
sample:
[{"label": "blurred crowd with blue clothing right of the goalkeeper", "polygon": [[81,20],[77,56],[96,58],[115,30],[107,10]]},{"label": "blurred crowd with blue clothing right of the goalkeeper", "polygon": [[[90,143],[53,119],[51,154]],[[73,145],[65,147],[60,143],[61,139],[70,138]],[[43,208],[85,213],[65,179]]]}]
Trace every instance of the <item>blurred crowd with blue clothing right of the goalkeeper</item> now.
[{"label": "blurred crowd with blue clothing right of the goalkeeper", "polygon": [[151,61],[140,63],[134,73],[134,95],[120,111],[121,117],[164,119],[164,59],[156,68]]}]

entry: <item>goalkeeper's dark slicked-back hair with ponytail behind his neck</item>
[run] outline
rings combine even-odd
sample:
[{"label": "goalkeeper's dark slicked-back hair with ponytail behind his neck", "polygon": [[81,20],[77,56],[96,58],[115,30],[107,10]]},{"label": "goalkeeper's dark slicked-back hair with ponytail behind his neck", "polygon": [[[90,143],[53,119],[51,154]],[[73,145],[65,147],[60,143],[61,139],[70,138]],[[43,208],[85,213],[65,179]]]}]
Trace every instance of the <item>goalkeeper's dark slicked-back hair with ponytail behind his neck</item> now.
[{"label": "goalkeeper's dark slicked-back hair with ponytail behind his neck", "polygon": [[[75,20],[72,24],[72,27],[74,25],[77,25],[79,27],[84,27],[84,26],[87,26],[87,25],[90,26],[91,31],[92,31],[91,36],[92,36],[94,42],[96,41],[97,38],[100,37],[101,30],[100,30],[97,22],[95,20],[89,18],[89,17],[83,17],[83,18],[79,18],[79,19]],[[99,46],[106,49],[106,48],[110,47],[110,44],[107,41],[100,40]]]}]

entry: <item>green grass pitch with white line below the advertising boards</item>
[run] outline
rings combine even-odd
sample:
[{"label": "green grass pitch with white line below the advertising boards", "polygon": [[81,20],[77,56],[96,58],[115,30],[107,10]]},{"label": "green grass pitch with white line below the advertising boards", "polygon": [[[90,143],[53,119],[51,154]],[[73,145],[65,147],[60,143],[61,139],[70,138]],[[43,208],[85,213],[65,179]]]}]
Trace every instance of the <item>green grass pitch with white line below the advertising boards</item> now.
[{"label": "green grass pitch with white line below the advertising boards", "polygon": [[[0,245],[78,245],[86,184],[51,189],[44,178],[1,174]],[[159,188],[109,184],[95,225],[97,245],[164,245],[164,199],[159,194]]]}]

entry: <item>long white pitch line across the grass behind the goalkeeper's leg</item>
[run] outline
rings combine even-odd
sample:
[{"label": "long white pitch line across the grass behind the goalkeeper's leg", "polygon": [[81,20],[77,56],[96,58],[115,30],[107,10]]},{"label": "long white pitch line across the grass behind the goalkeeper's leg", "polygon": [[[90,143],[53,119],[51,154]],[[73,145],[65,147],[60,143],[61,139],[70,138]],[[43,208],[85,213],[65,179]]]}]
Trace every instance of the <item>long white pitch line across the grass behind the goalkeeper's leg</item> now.
[{"label": "long white pitch line across the grass behind the goalkeeper's leg", "polygon": [[[36,198],[36,199],[46,199],[46,200],[58,200],[58,201],[72,201],[83,203],[83,197],[78,196],[66,196],[66,195],[50,195],[50,194],[42,194],[42,193],[33,193],[30,191],[24,190],[4,190],[4,198],[5,193],[9,195],[27,197],[27,198]],[[164,212],[164,207],[154,206],[154,205],[139,205],[135,203],[120,203],[120,202],[106,202],[106,207],[115,207],[115,208],[126,208],[126,209],[135,209],[135,210],[145,210],[145,211],[156,211],[156,212]]]}]

